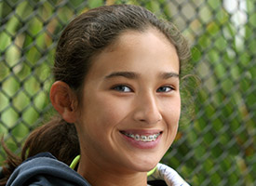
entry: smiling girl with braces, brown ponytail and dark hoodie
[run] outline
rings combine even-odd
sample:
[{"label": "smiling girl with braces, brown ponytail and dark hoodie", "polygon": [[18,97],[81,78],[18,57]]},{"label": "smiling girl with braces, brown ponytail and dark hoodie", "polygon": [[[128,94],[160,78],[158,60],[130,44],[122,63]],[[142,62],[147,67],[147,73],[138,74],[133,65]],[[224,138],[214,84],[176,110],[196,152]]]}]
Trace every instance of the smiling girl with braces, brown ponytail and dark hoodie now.
[{"label": "smiling girl with braces, brown ponytail and dark hoodie", "polygon": [[188,185],[158,162],[177,133],[189,51],[142,7],[75,18],[56,49],[50,100],[60,116],[34,130],[21,158],[8,153],[2,185]]}]

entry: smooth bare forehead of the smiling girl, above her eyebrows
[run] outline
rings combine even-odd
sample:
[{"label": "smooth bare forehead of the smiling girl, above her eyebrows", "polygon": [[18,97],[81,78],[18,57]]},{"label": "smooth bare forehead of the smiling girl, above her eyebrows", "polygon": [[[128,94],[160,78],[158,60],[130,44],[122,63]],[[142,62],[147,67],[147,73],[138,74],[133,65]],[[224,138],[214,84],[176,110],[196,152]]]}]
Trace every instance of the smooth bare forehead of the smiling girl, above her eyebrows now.
[{"label": "smooth bare forehead of the smiling girl, above her eyebrows", "polygon": [[121,33],[115,44],[108,46],[92,60],[89,73],[112,71],[168,71],[179,73],[175,47],[155,29]]}]

